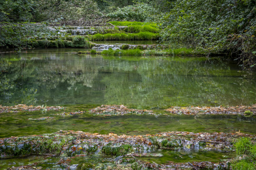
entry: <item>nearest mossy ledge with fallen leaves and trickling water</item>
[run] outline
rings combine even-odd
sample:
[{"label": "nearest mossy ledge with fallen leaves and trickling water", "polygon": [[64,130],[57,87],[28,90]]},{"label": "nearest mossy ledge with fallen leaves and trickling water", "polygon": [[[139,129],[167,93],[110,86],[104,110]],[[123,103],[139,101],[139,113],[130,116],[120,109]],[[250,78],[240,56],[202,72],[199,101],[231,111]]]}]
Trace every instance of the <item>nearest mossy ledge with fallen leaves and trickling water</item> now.
[{"label": "nearest mossy ledge with fallen leaves and trickling water", "polygon": [[[147,153],[157,148],[232,150],[233,141],[239,137],[256,140],[256,135],[238,133],[168,132],[156,135],[100,135],[82,131],[59,131],[45,135],[0,139],[0,157],[15,158],[31,154],[85,155],[101,153],[121,156]],[[79,139],[79,140],[78,140]]]}]

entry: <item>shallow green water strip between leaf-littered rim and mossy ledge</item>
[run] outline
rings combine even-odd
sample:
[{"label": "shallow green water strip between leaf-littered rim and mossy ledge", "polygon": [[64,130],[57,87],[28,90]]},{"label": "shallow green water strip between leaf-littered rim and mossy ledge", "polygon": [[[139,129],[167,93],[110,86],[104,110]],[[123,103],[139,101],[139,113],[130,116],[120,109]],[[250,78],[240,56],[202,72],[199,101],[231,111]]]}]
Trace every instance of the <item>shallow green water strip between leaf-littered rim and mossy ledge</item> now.
[{"label": "shallow green water strip between leaf-littered rim and mossy ledge", "polygon": [[[92,106],[91,106],[92,107]],[[79,110],[83,110],[81,107]],[[62,111],[63,112],[63,111]],[[61,111],[59,113],[62,113]],[[157,110],[156,110],[157,112]],[[56,112],[1,113],[0,138],[80,130],[88,133],[146,135],[168,131],[226,132],[255,134],[256,117],[241,115],[124,115],[92,116],[90,114],[61,117]],[[50,120],[28,118],[55,117]]]}]

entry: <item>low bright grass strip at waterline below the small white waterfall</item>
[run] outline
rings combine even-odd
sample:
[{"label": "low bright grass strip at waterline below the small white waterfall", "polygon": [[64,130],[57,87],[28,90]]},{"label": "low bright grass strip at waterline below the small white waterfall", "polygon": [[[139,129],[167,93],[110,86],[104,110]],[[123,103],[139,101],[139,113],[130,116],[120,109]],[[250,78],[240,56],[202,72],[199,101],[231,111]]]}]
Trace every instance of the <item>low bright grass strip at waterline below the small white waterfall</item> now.
[{"label": "low bright grass strip at waterline below the small white waterfall", "polygon": [[130,55],[130,56],[140,56],[141,50],[139,49],[129,49],[129,50],[104,50],[100,53],[101,55]]}]

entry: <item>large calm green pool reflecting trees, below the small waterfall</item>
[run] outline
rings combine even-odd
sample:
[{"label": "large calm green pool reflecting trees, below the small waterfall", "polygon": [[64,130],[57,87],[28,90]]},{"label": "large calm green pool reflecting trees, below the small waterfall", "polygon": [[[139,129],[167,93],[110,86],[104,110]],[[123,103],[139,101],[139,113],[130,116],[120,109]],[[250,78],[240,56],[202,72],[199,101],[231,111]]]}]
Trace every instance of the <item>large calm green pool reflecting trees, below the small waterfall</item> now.
[{"label": "large calm green pool reflecting trees, below the small waterfall", "polygon": [[[205,57],[77,55],[84,49],[3,54],[2,105],[124,104],[139,109],[251,105],[256,76]],[[69,53],[66,53],[69,52]]]}]

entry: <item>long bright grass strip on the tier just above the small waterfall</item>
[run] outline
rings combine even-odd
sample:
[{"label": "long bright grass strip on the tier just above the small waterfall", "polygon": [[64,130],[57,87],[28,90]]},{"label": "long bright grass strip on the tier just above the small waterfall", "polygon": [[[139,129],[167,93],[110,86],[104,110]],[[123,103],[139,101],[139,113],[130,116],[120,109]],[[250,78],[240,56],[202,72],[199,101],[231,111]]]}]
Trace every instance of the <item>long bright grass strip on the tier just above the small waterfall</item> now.
[{"label": "long bright grass strip on the tier just above the small waterfall", "polygon": [[116,33],[116,34],[95,34],[92,40],[158,40],[159,34],[152,32],[139,33]]}]

